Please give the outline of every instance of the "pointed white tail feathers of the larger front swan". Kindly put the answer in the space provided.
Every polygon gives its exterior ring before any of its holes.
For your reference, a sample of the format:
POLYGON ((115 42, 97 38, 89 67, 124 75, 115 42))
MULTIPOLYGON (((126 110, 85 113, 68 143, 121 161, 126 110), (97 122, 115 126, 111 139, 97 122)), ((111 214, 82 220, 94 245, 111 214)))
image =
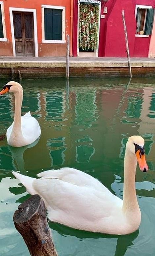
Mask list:
POLYGON ((20 182, 26 187, 26 190, 29 194, 35 195, 38 194, 35 189, 33 188, 33 181, 35 178, 25 176, 23 174, 20 174, 18 172, 12 171, 13 175, 20 180, 20 182))

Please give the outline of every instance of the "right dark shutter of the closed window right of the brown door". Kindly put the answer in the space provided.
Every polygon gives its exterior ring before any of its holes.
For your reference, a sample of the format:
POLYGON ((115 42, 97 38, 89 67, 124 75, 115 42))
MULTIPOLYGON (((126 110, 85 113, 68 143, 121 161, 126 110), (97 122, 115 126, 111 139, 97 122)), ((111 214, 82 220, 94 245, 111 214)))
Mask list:
POLYGON ((53 40, 62 40, 62 10, 53 9, 53 40))

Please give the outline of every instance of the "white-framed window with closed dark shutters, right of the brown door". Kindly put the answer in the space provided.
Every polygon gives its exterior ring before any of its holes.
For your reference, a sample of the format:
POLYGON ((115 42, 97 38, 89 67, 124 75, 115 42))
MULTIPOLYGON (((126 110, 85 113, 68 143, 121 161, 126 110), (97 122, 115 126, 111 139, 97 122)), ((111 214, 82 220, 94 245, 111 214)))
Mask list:
POLYGON ((42 5, 42 42, 65 43, 65 7, 42 5))

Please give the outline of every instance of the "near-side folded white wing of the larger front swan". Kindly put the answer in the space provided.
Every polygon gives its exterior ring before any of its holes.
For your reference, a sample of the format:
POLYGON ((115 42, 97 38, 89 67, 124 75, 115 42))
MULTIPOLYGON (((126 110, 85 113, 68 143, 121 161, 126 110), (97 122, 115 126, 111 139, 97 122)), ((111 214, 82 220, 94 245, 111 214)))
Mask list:
POLYGON ((99 232, 103 219, 108 223, 122 207, 122 200, 111 193, 59 179, 36 179, 33 188, 46 200, 51 221, 77 229, 99 232))

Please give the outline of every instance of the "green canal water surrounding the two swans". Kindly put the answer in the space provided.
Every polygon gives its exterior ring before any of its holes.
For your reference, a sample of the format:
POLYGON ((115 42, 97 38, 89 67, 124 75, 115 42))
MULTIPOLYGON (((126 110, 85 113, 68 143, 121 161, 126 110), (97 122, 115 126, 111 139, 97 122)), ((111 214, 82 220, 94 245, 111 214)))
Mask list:
MULTIPOLYGON (((1 80, 0 87, 7 81, 1 80)), ((145 139, 147 173, 137 167, 136 193, 142 213, 139 230, 105 235, 49 223, 59 256, 155 255, 155 80, 23 80, 22 114, 31 111, 41 126, 33 146, 13 148, 0 140, 0 255, 28 256, 13 224, 13 213, 30 195, 11 170, 37 173, 74 167, 100 180, 122 198, 127 138, 145 139)), ((0 135, 14 117, 14 95, 0 96, 0 135)))

